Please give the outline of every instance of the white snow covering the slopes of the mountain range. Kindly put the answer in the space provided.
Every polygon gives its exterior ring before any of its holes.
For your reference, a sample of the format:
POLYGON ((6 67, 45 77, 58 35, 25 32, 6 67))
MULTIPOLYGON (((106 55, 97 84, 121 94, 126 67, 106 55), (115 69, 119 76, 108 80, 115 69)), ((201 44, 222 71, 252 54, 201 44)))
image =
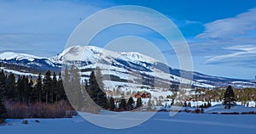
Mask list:
MULTIPOLYGON (((15 60, 22 60, 27 59, 31 61, 28 64, 28 66, 42 66, 44 64, 33 62, 35 59, 46 59, 43 57, 36 57, 33 55, 25 54, 25 53, 0 53, 0 60, 9 60, 9 59, 15 59, 15 60)), ((154 77, 155 82, 161 81, 160 79, 164 79, 163 82, 166 82, 167 84, 172 84, 172 82, 177 83, 183 83, 187 85, 192 85, 196 87, 207 87, 207 88, 213 88, 215 86, 224 86, 225 84, 232 84, 232 81, 230 83, 225 82, 211 82, 207 81, 207 79, 225 79, 229 80, 228 78, 221 78, 221 77, 214 77, 210 75, 202 75, 199 73, 195 73, 194 75, 201 76, 201 80, 194 80, 191 81, 189 79, 182 78, 177 75, 172 75, 169 73, 166 73, 165 71, 162 71, 161 69, 158 69, 157 67, 154 68, 154 65, 149 64, 158 64, 161 63, 157 59, 151 58, 147 55, 143 55, 141 53, 137 52, 114 52, 110 51, 101 47, 95 47, 95 46, 73 46, 68 47, 63 52, 59 53, 55 57, 51 57, 48 60, 45 60, 45 64, 53 66, 53 67, 60 67, 60 64, 71 64, 67 63, 67 61, 84 61, 87 65, 83 65, 80 69, 85 68, 95 68, 96 66, 100 66, 102 70, 102 74, 106 75, 116 75, 119 76, 121 79, 126 79, 129 81, 133 81, 133 83, 137 82, 137 79, 141 79, 140 74, 150 75, 151 77, 154 77), (125 64, 122 64, 117 59, 121 59, 126 61, 128 64, 137 65, 135 68, 127 67, 125 64), (65 62, 65 63, 63 63, 65 62), (145 68, 147 70, 139 70, 138 68, 145 68), (158 79, 160 78, 160 79, 158 79)), ((163 63, 165 64, 165 63, 163 63)), ((166 65, 167 67, 168 65, 166 65)), ((167 69, 168 70, 168 69, 167 69)), ((83 74, 83 73, 81 73, 83 74)), ((85 79, 85 78, 82 78, 85 79)), ((124 82, 125 84, 125 82, 124 82)), ((140 83, 137 83, 138 85, 140 83)), ((248 81, 233 81, 234 86, 236 87, 253 87, 255 84, 248 82, 248 81)))

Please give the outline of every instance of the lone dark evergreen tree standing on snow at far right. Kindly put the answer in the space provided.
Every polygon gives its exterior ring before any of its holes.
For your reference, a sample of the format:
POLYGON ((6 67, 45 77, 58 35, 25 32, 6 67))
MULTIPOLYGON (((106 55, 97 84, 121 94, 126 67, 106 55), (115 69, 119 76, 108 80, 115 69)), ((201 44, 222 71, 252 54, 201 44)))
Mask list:
MULTIPOLYGON (((224 93, 224 105, 228 105, 228 109, 231 107, 231 103, 235 103, 235 93, 233 88, 229 86, 224 93)), ((226 108, 226 107, 225 107, 226 108)))

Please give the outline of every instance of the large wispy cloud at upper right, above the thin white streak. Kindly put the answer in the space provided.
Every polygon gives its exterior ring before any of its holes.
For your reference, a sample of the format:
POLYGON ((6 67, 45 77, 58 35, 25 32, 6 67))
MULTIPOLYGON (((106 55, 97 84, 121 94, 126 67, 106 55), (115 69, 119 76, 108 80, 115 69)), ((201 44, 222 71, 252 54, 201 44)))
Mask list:
POLYGON ((238 14, 234 18, 216 20, 205 25, 206 31, 196 36, 202 39, 218 39, 246 35, 256 30, 256 8, 246 13, 238 14))

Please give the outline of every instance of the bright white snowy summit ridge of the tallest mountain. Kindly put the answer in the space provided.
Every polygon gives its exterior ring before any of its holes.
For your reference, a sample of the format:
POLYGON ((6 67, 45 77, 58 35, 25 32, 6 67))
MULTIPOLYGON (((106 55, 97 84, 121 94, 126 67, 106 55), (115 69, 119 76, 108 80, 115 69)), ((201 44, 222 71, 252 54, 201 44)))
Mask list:
POLYGON ((114 52, 101 47, 96 46, 74 46, 68 47, 63 52, 59 53, 55 57, 49 58, 53 62, 59 62, 66 60, 90 60, 95 63, 99 59, 123 59, 131 62, 146 62, 155 63, 160 62, 157 59, 143 55, 137 52, 114 52))

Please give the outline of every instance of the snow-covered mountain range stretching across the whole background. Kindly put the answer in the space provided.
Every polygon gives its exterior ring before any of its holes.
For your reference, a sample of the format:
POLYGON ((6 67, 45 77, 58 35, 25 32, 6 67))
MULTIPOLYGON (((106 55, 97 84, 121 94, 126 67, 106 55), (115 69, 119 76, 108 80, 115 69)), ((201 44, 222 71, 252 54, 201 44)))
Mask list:
MULTIPOLYGON (((74 46, 50 58, 41 58, 25 53, 0 53, 3 64, 15 64, 36 70, 61 70, 61 64, 79 62, 81 75, 86 79, 89 70, 100 66, 108 81, 129 82, 137 85, 192 85, 192 87, 253 87, 247 80, 230 79, 198 72, 172 69, 157 59, 136 52, 113 52, 101 47, 74 46), (183 77, 180 75, 183 74, 183 77), (193 75, 193 80, 191 79, 193 75)), ((23 69, 24 71, 24 69, 23 69)))

